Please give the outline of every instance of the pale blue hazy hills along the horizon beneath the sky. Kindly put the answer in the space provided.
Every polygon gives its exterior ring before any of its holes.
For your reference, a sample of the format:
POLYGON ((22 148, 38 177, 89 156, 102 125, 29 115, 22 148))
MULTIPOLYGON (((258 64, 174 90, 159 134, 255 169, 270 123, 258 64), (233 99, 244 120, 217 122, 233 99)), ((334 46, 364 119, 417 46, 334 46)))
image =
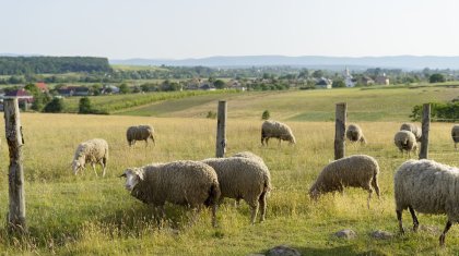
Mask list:
POLYGON ((175 66, 263 66, 263 65, 292 65, 315 69, 342 70, 343 66, 351 69, 389 68, 404 70, 429 69, 459 69, 459 57, 436 56, 393 56, 393 57, 323 57, 323 56, 240 56, 240 57, 209 57, 202 59, 127 59, 110 60, 111 64, 125 65, 175 65, 175 66))

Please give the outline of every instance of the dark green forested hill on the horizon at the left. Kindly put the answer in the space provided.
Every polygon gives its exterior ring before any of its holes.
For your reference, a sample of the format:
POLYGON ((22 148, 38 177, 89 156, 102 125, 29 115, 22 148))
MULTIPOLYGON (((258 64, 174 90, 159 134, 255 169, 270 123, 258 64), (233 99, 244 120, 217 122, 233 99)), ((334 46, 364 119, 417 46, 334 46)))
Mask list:
POLYGON ((95 57, 0 57, 0 75, 59 74, 111 71, 107 58, 95 57))

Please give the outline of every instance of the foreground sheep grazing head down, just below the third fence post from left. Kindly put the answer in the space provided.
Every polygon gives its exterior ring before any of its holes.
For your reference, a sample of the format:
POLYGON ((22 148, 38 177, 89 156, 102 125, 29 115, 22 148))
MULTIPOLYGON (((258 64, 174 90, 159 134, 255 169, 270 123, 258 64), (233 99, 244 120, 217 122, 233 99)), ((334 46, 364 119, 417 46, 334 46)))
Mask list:
POLYGON ((309 196, 317 200, 321 194, 328 192, 343 193, 343 188, 346 186, 362 187, 368 191, 367 206, 369 208, 373 190, 379 198, 378 173, 379 164, 370 156, 354 155, 341 158, 323 168, 310 187, 309 196))

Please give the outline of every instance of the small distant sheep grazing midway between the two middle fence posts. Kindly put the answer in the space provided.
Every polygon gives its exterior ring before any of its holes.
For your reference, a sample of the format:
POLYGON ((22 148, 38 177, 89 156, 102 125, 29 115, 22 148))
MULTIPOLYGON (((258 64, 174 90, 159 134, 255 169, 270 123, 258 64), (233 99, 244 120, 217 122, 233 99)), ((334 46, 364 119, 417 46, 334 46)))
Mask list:
POLYGON ((292 130, 289 127, 289 125, 276 122, 276 121, 270 121, 267 120, 261 125, 261 145, 268 146, 268 141, 271 137, 275 137, 279 139, 279 145, 281 145, 282 141, 287 141, 290 144, 295 144, 295 136, 292 133, 292 130))

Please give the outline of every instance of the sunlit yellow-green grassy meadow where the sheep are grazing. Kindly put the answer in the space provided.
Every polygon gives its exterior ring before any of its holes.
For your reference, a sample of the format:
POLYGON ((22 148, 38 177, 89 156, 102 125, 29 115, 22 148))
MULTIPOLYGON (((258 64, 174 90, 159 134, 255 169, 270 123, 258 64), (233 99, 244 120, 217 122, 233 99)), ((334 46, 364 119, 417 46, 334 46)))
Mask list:
MULTIPOLYGON (((414 105, 450 100, 458 93, 454 87, 263 92, 163 100, 129 109, 123 115, 22 113, 30 233, 11 237, 0 225, 0 254, 248 255, 280 244, 303 255, 459 254, 456 225, 447 235, 446 247, 438 246, 445 216, 419 215, 421 230, 398 235, 392 192, 393 173, 407 160, 393 145, 401 122, 409 121, 414 105), (118 176, 128 167, 213 157, 216 120, 204 119, 203 113, 216 111, 217 99, 228 102, 226 155, 250 150, 270 168, 273 190, 267 220, 250 225, 248 206, 242 203, 235 208, 226 199, 217 211, 217 228, 212 228, 209 211, 192 223, 190 212, 174 205, 166 206, 167 218, 158 225, 152 210, 130 196, 118 176), (348 102, 348 122, 357 122, 368 141, 367 145, 346 143, 345 155, 373 156, 381 169, 381 198, 375 196, 370 209, 363 190, 329 194, 317 203, 307 195, 317 174, 333 160, 333 111, 341 101, 348 102), (292 127, 295 146, 279 146, 275 139, 268 147, 260 146, 260 118, 267 109, 273 119, 292 127), (126 129, 142 123, 154 126, 156 145, 145 147, 139 142, 129 148, 126 129), (70 162, 76 145, 93 137, 105 138, 110 146, 107 175, 97 178, 91 168, 73 175, 70 162), (353 229, 357 237, 334 237, 342 229, 353 229), (369 236, 375 230, 396 235, 375 240, 369 236)), ((429 158, 458 166, 451 125, 431 124, 429 158)), ((4 217, 9 157, 4 136, 1 141, 0 216, 4 217)), ((99 167, 97 171, 101 173, 99 167)), ((410 228, 408 211, 403 220, 410 228)))

